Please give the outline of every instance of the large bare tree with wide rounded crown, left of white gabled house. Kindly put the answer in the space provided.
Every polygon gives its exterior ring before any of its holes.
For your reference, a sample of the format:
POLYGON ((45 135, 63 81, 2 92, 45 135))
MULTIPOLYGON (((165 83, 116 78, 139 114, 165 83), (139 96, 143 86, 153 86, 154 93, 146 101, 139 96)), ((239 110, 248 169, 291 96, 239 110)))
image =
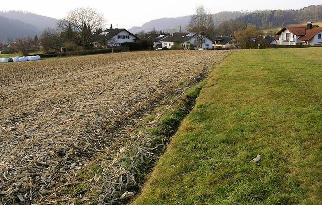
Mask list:
POLYGON ((104 22, 103 15, 95 9, 80 7, 69 11, 67 17, 58 21, 57 27, 64 32, 71 28, 74 41, 85 49, 93 33, 104 22))

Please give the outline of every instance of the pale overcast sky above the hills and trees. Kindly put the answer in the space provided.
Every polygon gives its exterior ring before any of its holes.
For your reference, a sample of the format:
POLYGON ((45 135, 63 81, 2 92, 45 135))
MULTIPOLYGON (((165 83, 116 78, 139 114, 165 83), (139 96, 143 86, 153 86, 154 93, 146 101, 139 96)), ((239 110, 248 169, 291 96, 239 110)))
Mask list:
MULTIPOLYGON (((195 14, 196 7, 203 5, 210 13, 222 11, 255 11, 255 10, 274 10, 274 9, 301 9, 309 5, 320 5, 322 0, 197 0, 197 1, 176 1, 176 0, 78 0, 77 2, 68 0, 54 1, 20 1, 6 2, 0 6, 1 11, 28 11, 43 16, 56 19, 66 17, 68 11, 78 7, 95 8, 103 14, 106 19, 106 27, 110 24, 114 28, 130 29, 133 26, 142 24, 154 19, 163 17, 180 17, 195 14)), ((1 26, 1 22, 0 22, 1 26)))

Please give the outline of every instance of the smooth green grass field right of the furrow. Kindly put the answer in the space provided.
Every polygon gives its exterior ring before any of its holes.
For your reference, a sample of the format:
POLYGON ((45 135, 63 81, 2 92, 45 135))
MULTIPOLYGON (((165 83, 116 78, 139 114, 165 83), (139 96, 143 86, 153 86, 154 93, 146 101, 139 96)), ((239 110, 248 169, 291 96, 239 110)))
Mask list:
POLYGON ((132 203, 322 204, 321 52, 228 56, 132 203))

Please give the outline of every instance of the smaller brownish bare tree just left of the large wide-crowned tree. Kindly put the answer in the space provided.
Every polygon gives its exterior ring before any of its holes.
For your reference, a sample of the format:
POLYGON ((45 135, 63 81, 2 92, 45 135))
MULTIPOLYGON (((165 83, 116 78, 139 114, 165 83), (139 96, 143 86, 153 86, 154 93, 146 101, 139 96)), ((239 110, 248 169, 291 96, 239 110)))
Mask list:
POLYGON ((49 52, 49 49, 54 49, 59 57, 59 51, 63 47, 64 39, 61 37, 61 32, 58 29, 45 29, 41 36, 40 41, 41 45, 44 47, 46 52, 49 52))

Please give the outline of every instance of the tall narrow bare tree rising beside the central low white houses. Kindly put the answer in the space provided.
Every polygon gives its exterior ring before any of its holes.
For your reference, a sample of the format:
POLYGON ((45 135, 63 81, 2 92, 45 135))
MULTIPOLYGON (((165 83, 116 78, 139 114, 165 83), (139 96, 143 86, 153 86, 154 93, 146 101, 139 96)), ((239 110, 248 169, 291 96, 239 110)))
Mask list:
POLYGON ((197 7, 196 14, 190 17, 188 31, 196 33, 197 39, 202 43, 206 36, 213 35, 214 28, 212 14, 207 12, 203 6, 197 7))

